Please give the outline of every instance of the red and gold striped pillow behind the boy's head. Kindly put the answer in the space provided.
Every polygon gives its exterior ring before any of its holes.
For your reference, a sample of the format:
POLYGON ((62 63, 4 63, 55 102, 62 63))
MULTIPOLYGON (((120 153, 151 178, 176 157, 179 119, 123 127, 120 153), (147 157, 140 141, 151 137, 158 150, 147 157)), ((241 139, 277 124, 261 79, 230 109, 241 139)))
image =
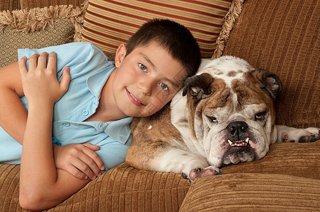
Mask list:
POLYGON ((232 0, 89 0, 81 40, 113 53, 147 20, 169 18, 187 27, 202 57, 212 57, 232 0))

